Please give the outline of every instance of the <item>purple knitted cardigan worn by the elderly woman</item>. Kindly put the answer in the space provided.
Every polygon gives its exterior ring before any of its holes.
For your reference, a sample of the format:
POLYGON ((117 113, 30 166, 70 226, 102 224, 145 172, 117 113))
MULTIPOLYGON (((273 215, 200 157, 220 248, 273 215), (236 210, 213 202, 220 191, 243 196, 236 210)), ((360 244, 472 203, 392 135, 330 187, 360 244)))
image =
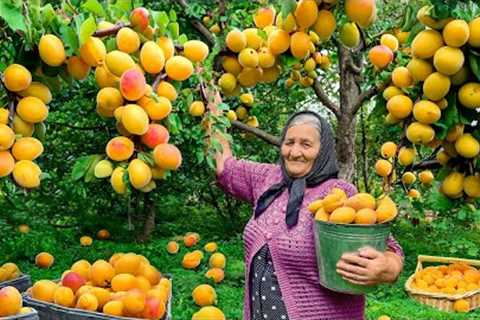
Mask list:
MULTIPOLYGON (((232 196, 250 202, 254 207, 260 195, 282 179, 280 166, 251 161, 225 161, 224 171, 217 177, 220 186, 232 196)), ((313 200, 326 196, 338 187, 348 196, 357 193, 346 181, 331 179, 305 190, 298 224, 287 229, 285 211, 288 190, 285 190, 258 218, 247 223, 243 233, 245 246, 245 298, 243 319, 250 320, 249 273, 252 258, 265 244, 270 249, 280 290, 290 320, 364 319, 365 297, 348 295, 324 288, 319 283, 315 244, 314 219, 306 209, 313 200)), ((402 248, 389 237, 390 250, 403 257, 402 248)))

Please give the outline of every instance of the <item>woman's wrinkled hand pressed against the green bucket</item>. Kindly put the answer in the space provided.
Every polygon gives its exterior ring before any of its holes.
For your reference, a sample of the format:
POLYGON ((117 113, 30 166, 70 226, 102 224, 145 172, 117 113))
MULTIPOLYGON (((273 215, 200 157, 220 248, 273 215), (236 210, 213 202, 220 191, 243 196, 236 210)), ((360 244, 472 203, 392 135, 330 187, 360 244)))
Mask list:
POLYGON ((393 282, 400 273, 393 252, 381 252, 372 247, 344 253, 337 263, 337 273, 354 284, 374 286, 393 282))

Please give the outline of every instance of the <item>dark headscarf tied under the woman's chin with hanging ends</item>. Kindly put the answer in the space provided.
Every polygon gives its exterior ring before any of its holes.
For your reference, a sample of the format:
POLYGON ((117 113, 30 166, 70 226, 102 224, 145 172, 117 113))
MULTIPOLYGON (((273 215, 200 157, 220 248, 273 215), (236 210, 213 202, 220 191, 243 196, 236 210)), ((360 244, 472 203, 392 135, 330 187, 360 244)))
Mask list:
POLYGON ((315 159, 312 169, 306 176, 300 178, 290 177, 285 168, 284 159, 280 154, 280 166, 282 168, 283 179, 280 183, 271 186, 260 196, 257 201, 257 207, 255 208, 255 218, 258 218, 270 206, 270 204, 282 194, 285 188, 288 188, 289 198, 285 222, 289 228, 295 226, 298 222, 298 213, 300 212, 300 206, 303 202, 305 187, 314 187, 328 179, 336 178, 338 176, 335 138, 333 137, 329 123, 317 113, 312 111, 301 111, 291 116, 283 129, 281 144, 285 141, 287 130, 295 125, 293 120, 303 115, 313 116, 320 121, 320 128, 314 125, 317 129, 320 129, 320 152, 315 159))

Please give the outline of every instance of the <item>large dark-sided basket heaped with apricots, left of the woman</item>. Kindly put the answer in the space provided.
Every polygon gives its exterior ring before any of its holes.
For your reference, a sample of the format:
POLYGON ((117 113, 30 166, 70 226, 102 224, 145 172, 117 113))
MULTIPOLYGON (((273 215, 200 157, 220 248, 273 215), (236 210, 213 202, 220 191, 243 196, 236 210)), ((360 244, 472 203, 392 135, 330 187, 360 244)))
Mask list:
POLYGON ((147 258, 116 253, 75 262, 58 281, 39 280, 24 294, 42 319, 171 319, 172 283, 147 258))

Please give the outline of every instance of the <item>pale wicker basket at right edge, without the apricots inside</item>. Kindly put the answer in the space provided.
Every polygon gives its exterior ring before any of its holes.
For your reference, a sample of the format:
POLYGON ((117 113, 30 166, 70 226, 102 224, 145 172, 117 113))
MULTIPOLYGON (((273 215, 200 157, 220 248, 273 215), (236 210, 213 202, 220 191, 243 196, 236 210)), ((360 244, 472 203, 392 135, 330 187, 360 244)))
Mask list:
MULTIPOLYGON (((424 262, 443 263, 443 264, 449 264, 453 262, 463 262, 471 266, 480 267, 479 260, 419 255, 415 273, 423 269, 422 263, 424 262)), ((470 303, 469 311, 472 311, 473 309, 480 307, 480 289, 477 289, 474 291, 468 291, 466 293, 461 293, 461 294, 425 292, 417 288, 414 288, 412 286, 412 282, 415 278, 415 273, 408 278, 407 282, 405 282, 405 290, 408 292, 408 295, 410 297, 417 300, 418 302, 432 306, 442 311, 454 311, 453 304, 458 299, 465 299, 470 303)))

